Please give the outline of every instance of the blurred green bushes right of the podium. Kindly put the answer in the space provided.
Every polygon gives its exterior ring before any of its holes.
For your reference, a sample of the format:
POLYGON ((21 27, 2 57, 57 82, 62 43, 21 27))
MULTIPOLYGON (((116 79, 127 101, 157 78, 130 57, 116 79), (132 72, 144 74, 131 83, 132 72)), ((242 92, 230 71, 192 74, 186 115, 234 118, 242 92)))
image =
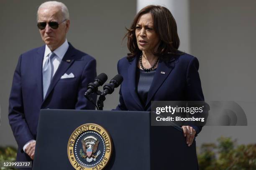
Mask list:
POLYGON ((256 144, 237 145, 236 140, 224 137, 217 141, 217 145, 201 146, 200 170, 256 170, 256 144))

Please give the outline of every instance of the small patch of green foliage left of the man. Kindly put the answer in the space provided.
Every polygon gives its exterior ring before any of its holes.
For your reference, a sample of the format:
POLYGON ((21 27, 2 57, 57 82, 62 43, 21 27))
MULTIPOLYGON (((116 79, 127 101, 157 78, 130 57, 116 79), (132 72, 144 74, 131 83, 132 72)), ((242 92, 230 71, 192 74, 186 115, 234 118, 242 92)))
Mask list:
MULTIPOLYGON (((11 146, 0 147, 0 163, 16 160, 17 149, 11 146)), ((1 165, 0 165, 1 166, 1 165)), ((15 168, 0 167, 0 170, 15 170, 15 168)))

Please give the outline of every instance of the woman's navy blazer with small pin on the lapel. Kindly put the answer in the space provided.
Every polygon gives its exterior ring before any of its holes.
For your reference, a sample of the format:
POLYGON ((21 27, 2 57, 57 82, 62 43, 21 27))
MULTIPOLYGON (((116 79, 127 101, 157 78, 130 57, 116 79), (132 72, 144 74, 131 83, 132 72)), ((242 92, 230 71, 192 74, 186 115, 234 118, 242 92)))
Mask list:
MULTIPOLYGON (((123 76, 123 82, 119 91, 120 104, 115 110, 151 111, 151 101, 204 101, 196 57, 184 53, 168 61, 160 60, 145 107, 136 91, 137 65, 138 56, 131 61, 126 57, 118 61, 118 74, 123 76)), ((201 126, 192 127, 196 134, 202 130, 201 126)))

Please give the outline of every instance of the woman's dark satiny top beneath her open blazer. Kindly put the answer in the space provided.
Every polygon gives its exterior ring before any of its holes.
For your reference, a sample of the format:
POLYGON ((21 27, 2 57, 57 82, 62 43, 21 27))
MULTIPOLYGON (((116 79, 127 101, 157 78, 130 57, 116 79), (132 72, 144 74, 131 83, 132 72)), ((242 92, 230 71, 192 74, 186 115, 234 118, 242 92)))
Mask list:
POLYGON ((148 98, 148 91, 153 81, 156 69, 146 72, 145 70, 141 70, 137 67, 136 70, 136 87, 138 96, 141 100, 141 104, 145 107, 147 98, 148 98))

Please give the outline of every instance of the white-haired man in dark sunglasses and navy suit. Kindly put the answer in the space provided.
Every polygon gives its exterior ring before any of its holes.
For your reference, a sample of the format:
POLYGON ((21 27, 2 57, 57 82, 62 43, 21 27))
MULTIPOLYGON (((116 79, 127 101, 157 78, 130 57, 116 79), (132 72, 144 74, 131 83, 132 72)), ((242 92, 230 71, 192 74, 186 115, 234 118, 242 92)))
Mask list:
POLYGON ((67 42, 66 5, 44 2, 38 7, 37 20, 46 45, 20 55, 9 99, 9 122, 19 161, 33 160, 40 109, 95 109, 84 92, 96 77, 96 61, 67 42))

